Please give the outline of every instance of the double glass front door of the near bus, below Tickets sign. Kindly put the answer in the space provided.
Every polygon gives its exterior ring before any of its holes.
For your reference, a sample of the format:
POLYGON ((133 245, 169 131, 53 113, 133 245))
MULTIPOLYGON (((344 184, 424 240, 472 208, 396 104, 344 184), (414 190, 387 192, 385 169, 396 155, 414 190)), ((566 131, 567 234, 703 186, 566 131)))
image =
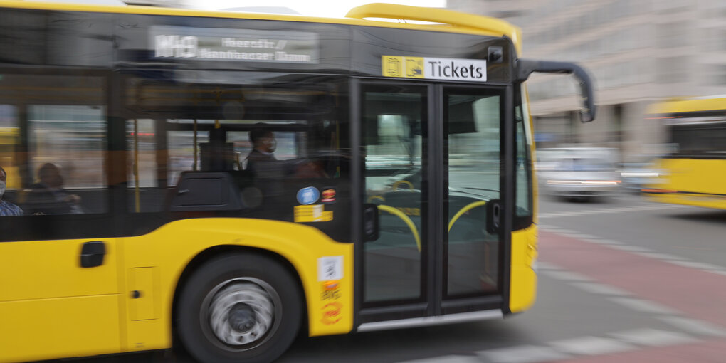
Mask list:
POLYGON ((362 83, 364 203, 378 238, 359 243, 359 330, 376 322, 500 309, 501 97, 412 82, 362 83))

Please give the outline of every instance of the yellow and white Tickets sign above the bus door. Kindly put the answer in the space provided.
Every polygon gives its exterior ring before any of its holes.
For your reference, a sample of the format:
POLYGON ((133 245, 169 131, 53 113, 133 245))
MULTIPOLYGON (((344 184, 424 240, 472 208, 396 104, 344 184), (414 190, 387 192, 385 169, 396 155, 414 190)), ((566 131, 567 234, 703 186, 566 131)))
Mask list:
POLYGON ((382 55, 380 64, 386 77, 486 82, 486 60, 382 55))

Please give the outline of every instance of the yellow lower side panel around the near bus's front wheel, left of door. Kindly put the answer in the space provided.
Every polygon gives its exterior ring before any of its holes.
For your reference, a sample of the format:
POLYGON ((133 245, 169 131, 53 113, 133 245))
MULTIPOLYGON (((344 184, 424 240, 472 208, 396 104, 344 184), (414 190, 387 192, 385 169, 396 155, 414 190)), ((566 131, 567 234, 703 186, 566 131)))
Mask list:
POLYGON ((73 263, 88 239, 0 243, 0 362, 51 359, 59 352, 90 356, 170 348, 171 307, 181 274, 192 259, 215 247, 266 250, 288 261, 305 291, 309 335, 352 330, 353 245, 330 240, 313 227, 261 219, 185 219, 139 237, 99 240, 111 248, 107 263, 92 271, 73 263), (33 257, 13 261, 3 256, 33 257), (317 279, 317 258, 324 256, 343 256, 345 266, 334 324, 324 319, 330 309, 317 279), (17 276, 13 272, 21 266, 35 273, 17 276), (144 295, 134 298, 133 291, 144 295), (68 309, 62 309, 63 301, 68 309), (52 338, 38 346, 40 337, 52 338))

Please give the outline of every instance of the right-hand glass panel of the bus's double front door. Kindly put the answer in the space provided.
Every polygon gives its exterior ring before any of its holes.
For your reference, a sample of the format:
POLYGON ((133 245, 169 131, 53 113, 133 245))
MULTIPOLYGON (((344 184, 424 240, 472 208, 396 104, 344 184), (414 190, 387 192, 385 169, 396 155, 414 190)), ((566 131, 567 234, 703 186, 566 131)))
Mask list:
POLYGON ((444 93, 448 146, 447 297, 494 293, 499 236, 487 232, 486 210, 499 199, 501 97, 491 91, 444 93))

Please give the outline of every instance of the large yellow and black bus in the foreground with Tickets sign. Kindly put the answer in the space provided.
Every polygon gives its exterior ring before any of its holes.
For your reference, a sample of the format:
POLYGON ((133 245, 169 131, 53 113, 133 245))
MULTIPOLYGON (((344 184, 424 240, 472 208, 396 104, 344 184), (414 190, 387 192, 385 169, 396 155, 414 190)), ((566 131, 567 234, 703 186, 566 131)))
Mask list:
POLYGON ((583 121, 595 109, 582 68, 521 60, 520 39, 389 4, 322 19, 0 1, 20 185, 2 206, 23 209, 0 217, 0 361, 179 345, 270 362, 298 333, 528 309, 523 82, 572 73, 583 121))

